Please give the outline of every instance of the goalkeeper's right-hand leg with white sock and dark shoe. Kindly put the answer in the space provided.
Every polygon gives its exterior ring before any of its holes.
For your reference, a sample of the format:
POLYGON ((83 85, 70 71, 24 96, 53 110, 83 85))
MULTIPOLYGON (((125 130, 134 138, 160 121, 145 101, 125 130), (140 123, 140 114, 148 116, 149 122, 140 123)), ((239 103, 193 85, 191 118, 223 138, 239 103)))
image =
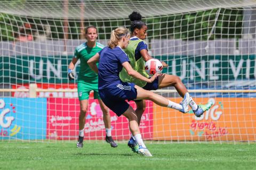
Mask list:
POLYGON ((115 147, 117 147, 117 144, 115 143, 115 141, 113 140, 112 135, 111 135, 111 120, 110 120, 109 109, 100 99, 99 99, 99 104, 100 104, 100 108, 103 112, 103 122, 104 122, 105 128, 106 128, 105 140, 106 140, 106 142, 108 142, 110 144, 111 147, 115 148, 115 147))

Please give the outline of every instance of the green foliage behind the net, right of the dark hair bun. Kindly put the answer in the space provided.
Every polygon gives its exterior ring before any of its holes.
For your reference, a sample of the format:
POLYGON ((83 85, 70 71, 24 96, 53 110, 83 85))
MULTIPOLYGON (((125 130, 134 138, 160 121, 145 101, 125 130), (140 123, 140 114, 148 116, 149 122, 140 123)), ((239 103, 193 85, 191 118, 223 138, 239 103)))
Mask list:
MULTIPOLYGON (((215 22, 217 11, 218 9, 147 19, 149 37, 206 40, 215 22)), ((221 9, 210 39, 241 38, 242 21, 242 10, 221 9)))

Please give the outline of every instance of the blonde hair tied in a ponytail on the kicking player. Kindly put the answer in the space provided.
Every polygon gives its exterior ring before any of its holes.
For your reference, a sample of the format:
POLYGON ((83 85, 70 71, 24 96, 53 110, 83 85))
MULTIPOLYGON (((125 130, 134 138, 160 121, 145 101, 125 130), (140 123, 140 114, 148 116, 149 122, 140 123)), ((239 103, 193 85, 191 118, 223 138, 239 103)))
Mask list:
POLYGON ((124 28, 124 27, 118 27, 115 30, 111 31, 111 36, 108 42, 108 47, 110 48, 115 48, 118 45, 118 41, 123 37, 123 36, 128 36, 130 35, 129 29, 124 28))

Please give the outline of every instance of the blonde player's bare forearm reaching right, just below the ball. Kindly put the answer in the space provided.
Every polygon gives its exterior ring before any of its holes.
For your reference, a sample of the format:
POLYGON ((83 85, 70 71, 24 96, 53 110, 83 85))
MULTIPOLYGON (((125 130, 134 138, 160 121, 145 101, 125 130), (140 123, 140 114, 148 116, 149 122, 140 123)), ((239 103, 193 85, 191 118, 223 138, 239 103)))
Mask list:
POLYGON ((150 79, 144 77, 143 75, 141 75, 140 73, 138 73, 137 71, 132 69, 132 66, 130 65, 129 62, 124 62, 122 63, 124 69, 126 70, 126 72, 128 73, 128 75, 130 75, 131 77, 134 77, 136 79, 140 79, 142 81, 146 81, 148 83, 153 82, 159 75, 159 73, 156 73, 153 75, 153 77, 151 77, 150 79))

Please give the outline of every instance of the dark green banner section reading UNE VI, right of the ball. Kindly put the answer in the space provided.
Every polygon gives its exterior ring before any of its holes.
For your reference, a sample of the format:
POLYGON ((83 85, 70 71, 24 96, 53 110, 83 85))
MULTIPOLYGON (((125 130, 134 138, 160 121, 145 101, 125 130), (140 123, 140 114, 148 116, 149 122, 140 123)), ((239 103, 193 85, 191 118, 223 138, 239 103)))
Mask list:
POLYGON ((164 73, 190 82, 255 80, 256 55, 156 56, 169 67, 164 73))

